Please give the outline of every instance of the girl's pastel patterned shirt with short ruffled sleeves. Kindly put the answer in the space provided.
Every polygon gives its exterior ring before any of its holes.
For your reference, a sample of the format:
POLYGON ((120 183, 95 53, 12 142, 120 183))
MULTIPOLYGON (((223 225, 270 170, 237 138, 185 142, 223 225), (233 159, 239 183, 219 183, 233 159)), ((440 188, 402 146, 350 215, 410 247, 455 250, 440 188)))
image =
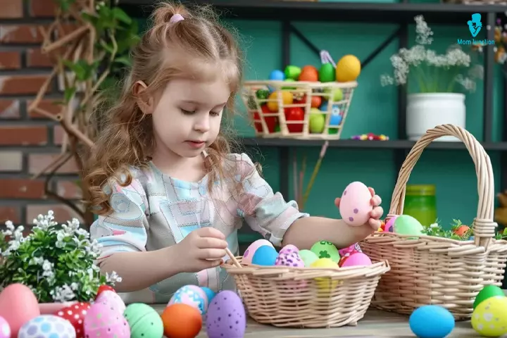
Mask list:
MULTIPOLYGON (((117 252, 153 251, 177 244, 200 227, 223 232, 229 249, 237 255, 237 231, 244 222, 280 246, 289 226, 308 216, 299 212, 295 201, 284 201, 280 193, 274 193, 246 154, 230 154, 223 166, 224 170, 234 170, 234 180, 215 182, 212 195, 208 175, 199 182, 184 182, 161 173, 153 163, 148 168, 132 168, 132 182, 126 187, 111 183, 113 211, 99 216, 90 229, 92 239, 102 246, 98 263, 117 252), (239 195, 234 193, 238 184, 239 195)), ((233 278, 218 267, 180 273, 122 296, 127 303, 165 303, 187 284, 215 292, 234 289, 233 278)))

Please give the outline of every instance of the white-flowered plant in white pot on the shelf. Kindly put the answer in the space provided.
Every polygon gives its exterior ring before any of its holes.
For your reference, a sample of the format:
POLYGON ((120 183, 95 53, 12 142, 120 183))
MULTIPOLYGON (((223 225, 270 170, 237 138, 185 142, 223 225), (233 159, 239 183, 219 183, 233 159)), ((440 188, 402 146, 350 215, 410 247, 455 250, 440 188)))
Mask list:
MULTIPOLYGON (((470 54, 458 44, 444 54, 429 48, 433 32, 423 15, 415 17, 415 44, 401 48, 391 56, 394 75, 382 75, 382 85, 403 85, 408 88, 406 133, 416 141, 426 130, 450 123, 465 127, 465 92, 475 91, 475 80, 482 78, 482 67, 474 65, 470 54), (408 86, 415 82, 415 89, 408 86)), ((438 141, 456 141, 440 137, 438 141)))

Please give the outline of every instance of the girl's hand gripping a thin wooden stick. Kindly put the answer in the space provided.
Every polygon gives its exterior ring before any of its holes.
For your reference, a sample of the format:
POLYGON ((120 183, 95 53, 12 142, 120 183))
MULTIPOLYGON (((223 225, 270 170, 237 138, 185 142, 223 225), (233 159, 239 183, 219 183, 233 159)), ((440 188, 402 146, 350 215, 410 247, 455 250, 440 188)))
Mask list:
POLYGON ((190 232, 176 244, 184 273, 197 273, 220 265, 227 255, 225 236, 213 227, 201 227, 190 232))

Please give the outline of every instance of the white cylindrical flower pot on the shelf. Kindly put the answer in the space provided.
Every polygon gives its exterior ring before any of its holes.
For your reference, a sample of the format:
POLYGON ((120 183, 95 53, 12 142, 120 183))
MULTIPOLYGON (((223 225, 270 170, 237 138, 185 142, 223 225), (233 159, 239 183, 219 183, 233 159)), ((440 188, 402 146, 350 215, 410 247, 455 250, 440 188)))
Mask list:
MULTIPOLYGON (((406 133, 411 141, 417 141, 426 130, 437 125, 457 125, 465 128, 465 95, 458 93, 408 94, 406 133)), ((456 142, 453 136, 439 137, 435 141, 456 142)))

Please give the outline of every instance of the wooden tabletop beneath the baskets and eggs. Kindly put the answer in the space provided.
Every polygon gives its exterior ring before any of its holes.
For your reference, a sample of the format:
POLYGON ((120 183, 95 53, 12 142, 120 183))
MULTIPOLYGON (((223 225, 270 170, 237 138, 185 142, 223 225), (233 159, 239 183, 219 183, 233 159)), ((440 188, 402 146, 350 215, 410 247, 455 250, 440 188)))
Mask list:
MULTIPOLYGON (((154 308, 162 312, 164 305, 154 308)), ((203 327, 197 338, 206 338, 206 329, 203 327)), ((369 310, 357 326, 334 327, 330 329, 293 329, 261 325, 249 318, 246 325, 245 338, 334 338, 334 337, 406 337, 415 335, 408 327, 408 317, 384 311, 369 310)), ((446 338, 480 337, 470 325, 470 321, 458 322, 453 332, 446 338)))

